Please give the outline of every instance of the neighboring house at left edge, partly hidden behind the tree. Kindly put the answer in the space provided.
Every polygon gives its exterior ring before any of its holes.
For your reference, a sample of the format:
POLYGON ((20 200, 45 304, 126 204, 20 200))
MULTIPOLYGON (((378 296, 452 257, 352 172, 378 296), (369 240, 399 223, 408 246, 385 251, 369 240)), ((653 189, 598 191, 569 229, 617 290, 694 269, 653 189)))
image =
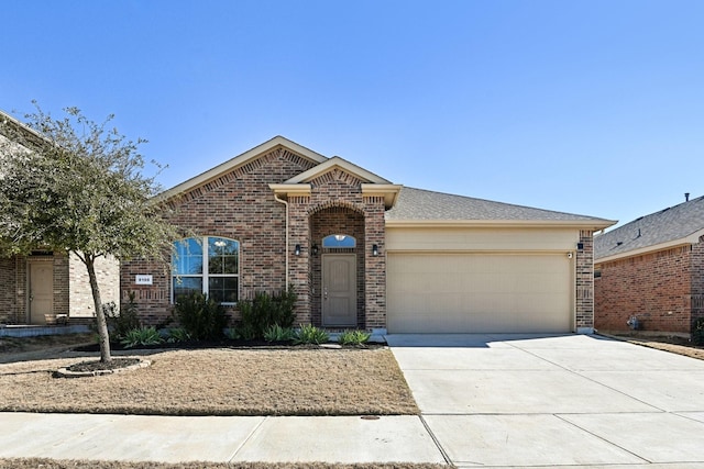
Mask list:
MULTIPOLYGON (((41 138, 2 111, 0 123, 13 125, 30 139, 41 138)), ((9 157, 8 144, 13 150, 19 146, 3 135, 0 125, 0 160, 9 157)), ((114 259, 100 259, 96 272, 102 301, 119 302, 118 263, 114 259)), ((37 246, 29 256, 0 257, 0 324, 45 325, 57 319, 59 322, 84 322, 95 315, 86 267, 78 257, 67 253, 37 246)))

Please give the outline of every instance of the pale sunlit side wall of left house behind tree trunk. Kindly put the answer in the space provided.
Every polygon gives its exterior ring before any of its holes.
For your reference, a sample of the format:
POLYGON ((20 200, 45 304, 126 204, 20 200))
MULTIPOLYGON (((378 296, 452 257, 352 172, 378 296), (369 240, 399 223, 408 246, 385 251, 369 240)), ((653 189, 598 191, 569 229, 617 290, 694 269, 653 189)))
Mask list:
MULTIPOLYGON (((96 260, 96 276, 100 287, 102 303, 114 301, 120 304, 120 263, 113 257, 100 257, 96 260)), ((69 258, 69 315, 72 317, 92 317, 95 306, 88 270, 81 260, 72 254, 69 258)))

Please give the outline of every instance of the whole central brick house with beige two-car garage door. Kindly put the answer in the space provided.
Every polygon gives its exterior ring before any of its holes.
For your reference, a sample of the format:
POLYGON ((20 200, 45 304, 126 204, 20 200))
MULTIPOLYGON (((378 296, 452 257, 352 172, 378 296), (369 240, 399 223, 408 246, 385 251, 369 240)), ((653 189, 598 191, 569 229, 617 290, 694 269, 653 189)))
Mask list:
POLYGON ((202 291, 237 315, 290 286, 297 323, 388 333, 591 333, 593 233, 615 222, 394 185, 275 137, 161 196, 172 271, 121 266, 144 320, 202 291))

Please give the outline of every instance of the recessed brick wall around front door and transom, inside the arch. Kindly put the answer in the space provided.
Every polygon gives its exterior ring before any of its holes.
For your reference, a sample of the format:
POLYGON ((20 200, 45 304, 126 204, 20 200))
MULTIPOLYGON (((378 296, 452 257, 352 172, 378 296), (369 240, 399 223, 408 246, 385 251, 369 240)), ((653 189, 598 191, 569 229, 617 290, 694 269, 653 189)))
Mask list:
POLYGON ((318 254, 310 258, 311 314, 316 325, 322 325, 322 256, 327 254, 354 254, 356 258, 356 327, 365 328, 364 311, 364 212, 352 203, 331 203, 311 210, 310 244, 318 246, 318 254), (344 249, 322 248, 322 238, 333 234, 345 234, 356 239, 356 246, 344 249))

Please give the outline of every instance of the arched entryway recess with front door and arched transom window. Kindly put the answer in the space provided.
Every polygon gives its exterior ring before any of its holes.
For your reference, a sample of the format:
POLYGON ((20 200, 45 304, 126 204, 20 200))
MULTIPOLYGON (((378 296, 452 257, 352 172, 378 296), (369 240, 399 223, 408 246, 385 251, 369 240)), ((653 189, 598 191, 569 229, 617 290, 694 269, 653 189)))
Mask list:
POLYGON ((310 215, 312 323, 327 328, 365 328, 364 214, 328 206, 310 215))

